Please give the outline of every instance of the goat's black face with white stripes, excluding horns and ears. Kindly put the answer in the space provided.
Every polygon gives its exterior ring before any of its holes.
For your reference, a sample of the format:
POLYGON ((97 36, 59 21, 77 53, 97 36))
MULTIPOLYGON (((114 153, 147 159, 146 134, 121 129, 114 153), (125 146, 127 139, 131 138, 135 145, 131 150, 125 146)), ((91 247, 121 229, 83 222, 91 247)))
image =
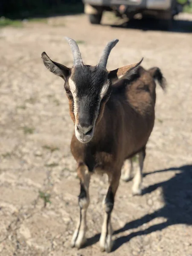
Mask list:
POLYGON ((76 137, 87 143, 93 137, 99 110, 111 94, 108 71, 97 66, 74 67, 69 88, 73 94, 76 137))

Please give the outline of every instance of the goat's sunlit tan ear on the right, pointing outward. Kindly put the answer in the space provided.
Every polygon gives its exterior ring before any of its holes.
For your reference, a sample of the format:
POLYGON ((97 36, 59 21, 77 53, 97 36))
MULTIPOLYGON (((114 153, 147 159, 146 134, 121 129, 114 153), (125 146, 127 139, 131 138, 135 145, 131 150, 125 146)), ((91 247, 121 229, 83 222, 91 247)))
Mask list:
POLYGON ((137 72, 142 61, 143 58, 136 64, 119 67, 116 70, 109 71, 108 78, 112 81, 112 84, 122 79, 131 79, 131 76, 137 72))

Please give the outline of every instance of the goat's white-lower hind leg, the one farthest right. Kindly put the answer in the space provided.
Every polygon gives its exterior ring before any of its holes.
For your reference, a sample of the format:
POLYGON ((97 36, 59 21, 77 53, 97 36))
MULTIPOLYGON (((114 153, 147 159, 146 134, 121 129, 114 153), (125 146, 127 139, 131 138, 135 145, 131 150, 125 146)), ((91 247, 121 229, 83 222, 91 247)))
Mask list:
POLYGON ((142 172, 143 172, 143 163, 145 160, 145 147, 138 153, 139 155, 139 168, 137 168, 132 187, 133 195, 141 195, 141 186, 142 186, 142 172))

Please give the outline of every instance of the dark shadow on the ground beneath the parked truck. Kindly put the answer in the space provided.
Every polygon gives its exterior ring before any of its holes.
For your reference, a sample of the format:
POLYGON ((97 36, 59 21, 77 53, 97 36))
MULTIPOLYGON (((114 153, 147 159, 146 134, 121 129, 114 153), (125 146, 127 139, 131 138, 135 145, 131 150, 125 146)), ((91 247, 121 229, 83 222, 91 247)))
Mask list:
MULTIPOLYGON (((105 26, 105 24, 104 24, 105 26)), ((171 28, 169 30, 162 25, 162 20, 155 19, 134 19, 126 21, 120 25, 113 24, 113 28, 124 28, 124 29, 140 29, 143 31, 166 31, 166 32, 178 32, 178 33, 192 33, 192 21, 190 20, 173 20, 171 28)))

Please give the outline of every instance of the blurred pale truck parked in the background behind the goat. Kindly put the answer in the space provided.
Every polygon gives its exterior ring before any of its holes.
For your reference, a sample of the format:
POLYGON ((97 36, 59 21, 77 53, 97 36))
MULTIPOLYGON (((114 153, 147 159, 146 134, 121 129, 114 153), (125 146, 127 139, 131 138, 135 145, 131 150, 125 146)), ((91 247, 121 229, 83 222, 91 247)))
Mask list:
POLYGON ((183 11, 189 0, 83 0, 84 13, 91 24, 100 24, 103 12, 114 12, 118 17, 134 19, 138 13, 142 17, 162 20, 166 29, 172 28, 174 16, 183 11))

